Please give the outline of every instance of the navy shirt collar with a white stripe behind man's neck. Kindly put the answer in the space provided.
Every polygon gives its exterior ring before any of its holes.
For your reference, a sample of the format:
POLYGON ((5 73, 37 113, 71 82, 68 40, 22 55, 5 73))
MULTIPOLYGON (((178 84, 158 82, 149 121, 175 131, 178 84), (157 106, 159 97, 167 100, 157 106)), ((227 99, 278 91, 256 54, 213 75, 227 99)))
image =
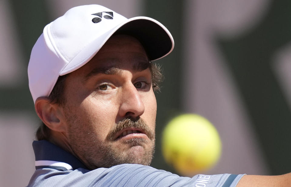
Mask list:
POLYGON ((52 168, 60 171, 88 169, 79 159, 46 140, 33 141, 35 169, 52 168))

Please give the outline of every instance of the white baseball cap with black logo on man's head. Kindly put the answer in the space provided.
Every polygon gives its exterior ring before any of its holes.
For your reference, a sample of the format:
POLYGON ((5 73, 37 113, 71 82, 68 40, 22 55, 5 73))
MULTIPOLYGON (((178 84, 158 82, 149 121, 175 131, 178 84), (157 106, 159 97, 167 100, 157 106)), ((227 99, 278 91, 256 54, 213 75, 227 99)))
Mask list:
POLYGON ((101 5, 71 8, 45 26, 32 48, 28 80, 33 101, 49 96, 59 76, 89 62, 116 33, 137 38, 151 61, 168 55, 174 48, 168 29, 152 18, 127 19, 101 5))

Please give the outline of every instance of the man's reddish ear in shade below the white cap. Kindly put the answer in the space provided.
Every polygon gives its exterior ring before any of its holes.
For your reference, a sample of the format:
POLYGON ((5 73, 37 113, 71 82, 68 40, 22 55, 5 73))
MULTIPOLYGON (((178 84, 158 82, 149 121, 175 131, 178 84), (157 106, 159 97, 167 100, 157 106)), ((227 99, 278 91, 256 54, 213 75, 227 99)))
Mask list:
POLYGON ((52 104, 48 97, 39 97, 35 101, 35 111, 44 124, 53 131, 66 130, 63 109, 58 104, 52 104))

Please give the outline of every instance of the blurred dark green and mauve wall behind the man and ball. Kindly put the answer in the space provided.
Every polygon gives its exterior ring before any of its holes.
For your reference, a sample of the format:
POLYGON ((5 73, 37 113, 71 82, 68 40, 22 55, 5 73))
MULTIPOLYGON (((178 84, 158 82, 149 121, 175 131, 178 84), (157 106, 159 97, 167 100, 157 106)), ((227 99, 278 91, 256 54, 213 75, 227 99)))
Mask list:
POLYGON ((221 159, 204 174, 291 172, 290 1, 1 0, 1 185, 27 185, 35 170, 31 143, 40 120, 28 89, 30 51, 46 24, 85 4, 152 17, 174 37, 174 51, 157 61, 165 81, 156 94, 153 167, 176 173, 162 158, 161 132, 190 112, 208 118, 222 139, 221 159))

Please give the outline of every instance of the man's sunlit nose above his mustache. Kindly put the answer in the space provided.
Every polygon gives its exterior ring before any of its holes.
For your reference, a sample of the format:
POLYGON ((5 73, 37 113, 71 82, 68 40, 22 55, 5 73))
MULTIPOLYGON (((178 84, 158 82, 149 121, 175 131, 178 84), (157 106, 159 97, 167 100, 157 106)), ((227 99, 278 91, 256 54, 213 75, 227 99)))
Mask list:
POLYGON ((121 105, 119 108, 119 116, 124 117, 139 117, 145 111, 145 105, 142 101, 140 92, 132 83, 127 84, 122 88, 121 105))

